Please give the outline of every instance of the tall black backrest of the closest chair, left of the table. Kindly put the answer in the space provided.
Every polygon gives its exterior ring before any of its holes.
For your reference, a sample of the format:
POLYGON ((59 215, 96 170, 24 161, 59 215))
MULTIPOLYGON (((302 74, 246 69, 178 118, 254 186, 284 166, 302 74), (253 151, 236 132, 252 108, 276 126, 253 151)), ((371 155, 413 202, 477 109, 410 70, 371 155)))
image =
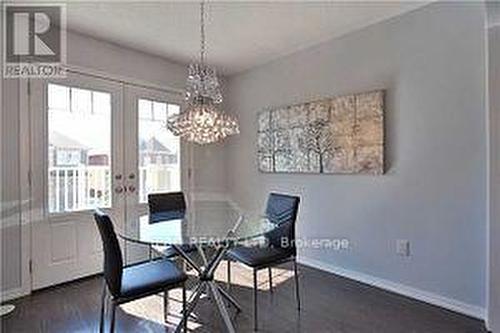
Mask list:
POLYGON ((94 218, 101 234, 104 249, 104 279, 112 295, 117 296, 121 290, 123 259, 120 244, 116 237, 113 223, 109 216, 96 210, 94 218))

